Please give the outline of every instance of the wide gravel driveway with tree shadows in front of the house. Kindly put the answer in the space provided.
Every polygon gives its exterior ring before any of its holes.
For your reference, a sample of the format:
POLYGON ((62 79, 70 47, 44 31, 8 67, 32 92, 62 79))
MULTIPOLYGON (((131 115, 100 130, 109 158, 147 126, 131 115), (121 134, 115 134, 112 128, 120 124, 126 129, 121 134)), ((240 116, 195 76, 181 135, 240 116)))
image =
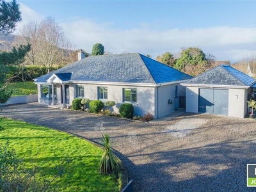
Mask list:
POLYGON ((3 106, 2 116, 72 132, 115 150, 134 179, 134 191, 252 191, 246 164, 256 163, 256 121, 185 113, 145 124, 37 104, 3 106))

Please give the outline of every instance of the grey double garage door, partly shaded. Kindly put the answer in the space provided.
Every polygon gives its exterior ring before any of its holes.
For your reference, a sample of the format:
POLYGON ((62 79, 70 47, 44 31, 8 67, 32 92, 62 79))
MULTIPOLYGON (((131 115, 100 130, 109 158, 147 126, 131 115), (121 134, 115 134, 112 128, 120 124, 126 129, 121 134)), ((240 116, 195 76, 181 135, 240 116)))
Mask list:
POLYGON ((228 115, 228 90, 199 89, 198 112, 228 115))

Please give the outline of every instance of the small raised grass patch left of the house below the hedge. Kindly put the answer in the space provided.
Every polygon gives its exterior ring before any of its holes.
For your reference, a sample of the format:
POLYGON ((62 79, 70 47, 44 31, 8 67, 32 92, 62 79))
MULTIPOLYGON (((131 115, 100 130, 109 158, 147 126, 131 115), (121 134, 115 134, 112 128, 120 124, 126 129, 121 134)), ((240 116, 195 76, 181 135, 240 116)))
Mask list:
POLYGON ((12 97, 37 93, 37 86, 32 81, 10 83, 7 88, 13 91, 12 97))

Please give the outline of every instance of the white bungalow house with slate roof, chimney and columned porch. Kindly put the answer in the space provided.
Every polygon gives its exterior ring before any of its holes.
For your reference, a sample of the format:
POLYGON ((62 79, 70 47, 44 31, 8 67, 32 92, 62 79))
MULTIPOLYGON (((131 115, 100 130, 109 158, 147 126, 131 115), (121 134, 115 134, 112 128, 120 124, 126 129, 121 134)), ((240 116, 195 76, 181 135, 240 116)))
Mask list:
POLYGON ((34 81, 40 104, 65 108, 77 97, 114 100, 116 112, 129 102, 136 115, 152 113, 159 118, 179 108, 179 96, 186 95, 180 83, 188 79, 188 74, 139 53, 84 58, 79 52, 79 61, 34 81))

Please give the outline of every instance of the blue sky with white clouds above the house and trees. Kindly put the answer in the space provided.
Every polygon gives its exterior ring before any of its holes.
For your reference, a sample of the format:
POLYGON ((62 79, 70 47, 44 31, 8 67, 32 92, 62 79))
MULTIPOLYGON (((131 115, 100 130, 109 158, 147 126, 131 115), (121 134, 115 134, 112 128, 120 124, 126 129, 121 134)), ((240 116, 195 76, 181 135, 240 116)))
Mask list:
POLYGON ((92 52, 140 52, 152 58, 164 52, 199 47, 216 60, 235 63, 256 56, 256 0, 85 1, 17 0, 22 22, 53 17, 74 49, 92 52))

